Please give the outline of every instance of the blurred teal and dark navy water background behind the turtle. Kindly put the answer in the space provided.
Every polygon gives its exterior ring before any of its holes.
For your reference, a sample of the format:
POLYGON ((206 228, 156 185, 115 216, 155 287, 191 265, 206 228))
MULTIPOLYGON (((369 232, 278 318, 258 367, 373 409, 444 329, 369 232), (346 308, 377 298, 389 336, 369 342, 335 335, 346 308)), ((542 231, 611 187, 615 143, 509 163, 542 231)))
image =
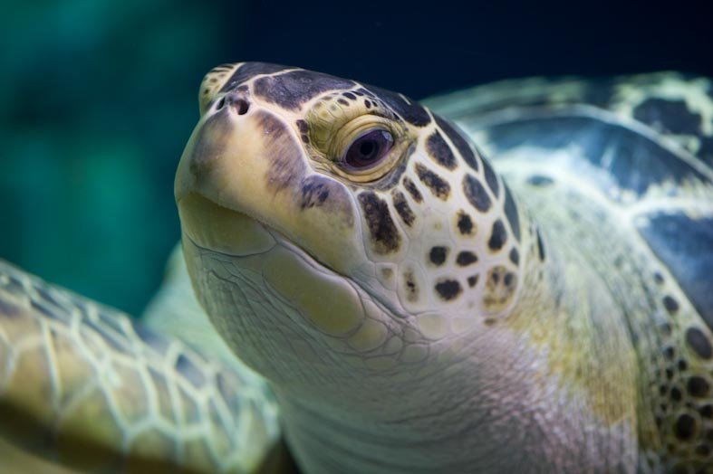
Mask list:
POLYGON ((415 99, 532 75, 713 75, 702 1, 4 4, 0 258, 134 315, 178 242, 173 176, 217 64, 300 66, 415 99))

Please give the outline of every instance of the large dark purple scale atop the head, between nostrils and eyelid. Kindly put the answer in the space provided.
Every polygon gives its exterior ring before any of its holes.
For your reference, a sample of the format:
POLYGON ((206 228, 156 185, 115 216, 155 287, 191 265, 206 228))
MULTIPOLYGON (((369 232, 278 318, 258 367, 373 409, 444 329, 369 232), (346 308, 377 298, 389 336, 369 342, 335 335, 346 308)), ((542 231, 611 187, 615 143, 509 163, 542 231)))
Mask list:
POLYGON ((296 110, 328 90, 351 89, 354 82, 321 72, 289 71, 255 80, 255 95, 284 109, 296 110))

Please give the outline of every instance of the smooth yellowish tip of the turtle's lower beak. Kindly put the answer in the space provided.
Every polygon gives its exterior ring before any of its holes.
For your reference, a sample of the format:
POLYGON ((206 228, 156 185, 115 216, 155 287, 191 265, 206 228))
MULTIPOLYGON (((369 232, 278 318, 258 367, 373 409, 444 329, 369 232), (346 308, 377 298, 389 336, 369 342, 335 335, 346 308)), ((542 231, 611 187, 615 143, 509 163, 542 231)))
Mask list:
POLYGON ((188 239, 211 251, 243 257, 265 253, 277 244, 264 223, 198 193, 181 197, 178 214, 188 239))

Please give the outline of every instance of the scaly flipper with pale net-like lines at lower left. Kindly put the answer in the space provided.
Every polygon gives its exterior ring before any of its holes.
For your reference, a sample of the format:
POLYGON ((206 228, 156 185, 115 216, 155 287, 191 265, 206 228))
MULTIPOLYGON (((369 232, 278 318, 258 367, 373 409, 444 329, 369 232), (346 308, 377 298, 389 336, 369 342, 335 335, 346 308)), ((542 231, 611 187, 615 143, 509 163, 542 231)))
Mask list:
POLYGON ((0 437, 83 472, 242 473, 279 429, 265 385, 0 261, 0 437))

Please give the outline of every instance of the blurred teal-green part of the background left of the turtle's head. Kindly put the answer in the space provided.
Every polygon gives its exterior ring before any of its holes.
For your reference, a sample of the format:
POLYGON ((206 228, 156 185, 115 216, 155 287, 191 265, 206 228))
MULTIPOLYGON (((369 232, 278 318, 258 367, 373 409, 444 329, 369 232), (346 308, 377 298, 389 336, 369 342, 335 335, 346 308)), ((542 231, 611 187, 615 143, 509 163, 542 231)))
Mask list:
POLYGON ((0 257, 132 314, 178 242, 202 75, 239 53, 217 47, 225 10, 177 5, 0 8, 0 257))

